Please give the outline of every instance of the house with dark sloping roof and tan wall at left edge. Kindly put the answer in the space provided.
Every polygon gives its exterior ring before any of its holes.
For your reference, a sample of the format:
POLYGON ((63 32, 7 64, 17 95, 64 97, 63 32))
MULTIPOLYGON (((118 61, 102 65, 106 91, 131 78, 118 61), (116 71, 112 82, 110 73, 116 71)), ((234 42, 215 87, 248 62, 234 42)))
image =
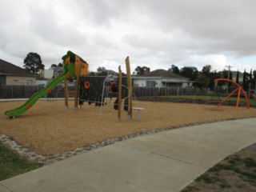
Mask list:
POLYGON ((35 86, 36 75, 0 59, 0 85, 35 86))

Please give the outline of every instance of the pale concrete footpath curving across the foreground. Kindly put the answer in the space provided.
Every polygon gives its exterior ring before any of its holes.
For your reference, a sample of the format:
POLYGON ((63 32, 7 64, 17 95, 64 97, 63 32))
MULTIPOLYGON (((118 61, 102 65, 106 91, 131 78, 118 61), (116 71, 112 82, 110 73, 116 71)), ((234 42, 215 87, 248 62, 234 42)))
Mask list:
POLYGON ((187 126, 116 142, 0 182, 1 192, 180 191, 256 142, 256 118, 187 126))

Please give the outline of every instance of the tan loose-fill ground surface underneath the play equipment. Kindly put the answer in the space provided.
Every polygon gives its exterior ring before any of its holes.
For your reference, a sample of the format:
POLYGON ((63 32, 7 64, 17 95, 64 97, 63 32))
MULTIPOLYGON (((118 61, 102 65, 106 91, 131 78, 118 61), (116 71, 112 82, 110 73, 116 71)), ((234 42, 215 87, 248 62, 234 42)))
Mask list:
MULTIPOLYGON (((64 101, 48 102, 40 100, 26 114, 9 118, 0 114, 0 134, 6 134, 38 154, 59 154, 75 148, 120 138, 125 135, 178 128, 195 123, 214 122, 226 119, 256 117, 256 109, 234 106, 198 105, 173 102, 138 102, 133 107, 142 107, 141 119, 138 111, 133 110, 132 118, 127 119, 126 111, 122 112, 121 121, 113 110, 114 101, 106 99, 101 107, 84 103, 82 109, 74 110, 74 101, 65 109, 64 101)), ((0 102, 5 111, 20 106, 24 101, 0 102)))

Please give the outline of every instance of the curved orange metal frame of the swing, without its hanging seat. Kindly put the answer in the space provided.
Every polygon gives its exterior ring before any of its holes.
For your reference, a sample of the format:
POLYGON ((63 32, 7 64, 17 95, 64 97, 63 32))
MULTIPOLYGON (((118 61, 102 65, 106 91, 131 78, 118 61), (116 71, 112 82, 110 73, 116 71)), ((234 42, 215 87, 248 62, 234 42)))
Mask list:
POLYGON ((214 82, 220 82, 220 81, 231 82, 235 86, 237 86, 237 88, 235 90, 233 90, 228 96, 226 96, 226 98, 224 98, 222 102, 218 102, 218 106, 222 105, 223 102, 226 102, 232 95, 234 95, 238 91, 238 98, 237 98, 237 104, 236 104, 236 110, 238 110, 240 94, 241 94, 241 91, 242 91, 242 94, 244 95, 244 97, 246 99, 246 107, 247 107, 247 109, 250 108, 249 100, 247 98, 245 90, 242 89, 242 86, 240 86, 237 82, 234 82, 234 81, 232 81, 230 79, 227 79, 227 78, 216 78, 216 79, 214 79, 214 82))

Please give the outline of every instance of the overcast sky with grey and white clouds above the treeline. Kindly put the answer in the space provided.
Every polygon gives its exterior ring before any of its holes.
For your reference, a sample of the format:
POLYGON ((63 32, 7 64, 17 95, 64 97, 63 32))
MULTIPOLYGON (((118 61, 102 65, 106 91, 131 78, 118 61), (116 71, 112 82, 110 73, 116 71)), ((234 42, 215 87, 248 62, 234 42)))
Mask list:
POLYGON ((211 65, 256 70, 255 0, 1 0, 0 58, 46 69, 68 50, 91 71, 211 65))

